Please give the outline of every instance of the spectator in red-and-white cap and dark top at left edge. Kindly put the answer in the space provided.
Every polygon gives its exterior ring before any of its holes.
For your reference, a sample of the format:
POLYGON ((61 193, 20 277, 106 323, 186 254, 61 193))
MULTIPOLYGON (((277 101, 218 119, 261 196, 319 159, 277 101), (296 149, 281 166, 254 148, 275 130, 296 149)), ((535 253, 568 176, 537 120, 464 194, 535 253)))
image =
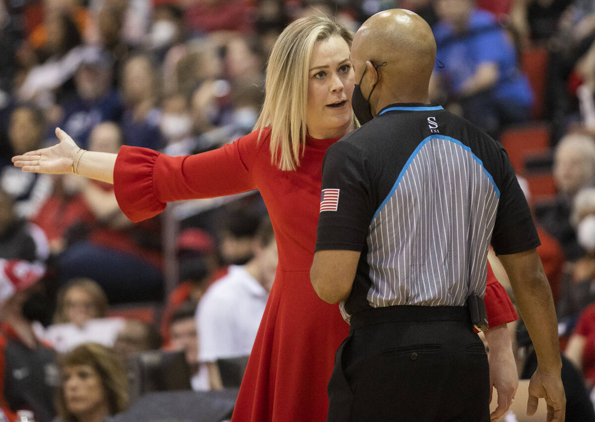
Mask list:
MULTIPOLYGON (((58 385, 55 351, 36 337, 30 316, 25 312, 42 272, 30 268, 5 268, 4 275, 15 281, 15 291, 1 307, 0 324, 0 406, 9 420, 15 412, 30 409, 39 422, 55 416, 53 395, 58 385), (7 272, 8 269, 8 272, 7 272), (29 280, 26 280, 26 279, 29 280), (22 288, 19 288, 22 286, 22 288)), ((35 298, 35 300, 39 300, 35 298)))

